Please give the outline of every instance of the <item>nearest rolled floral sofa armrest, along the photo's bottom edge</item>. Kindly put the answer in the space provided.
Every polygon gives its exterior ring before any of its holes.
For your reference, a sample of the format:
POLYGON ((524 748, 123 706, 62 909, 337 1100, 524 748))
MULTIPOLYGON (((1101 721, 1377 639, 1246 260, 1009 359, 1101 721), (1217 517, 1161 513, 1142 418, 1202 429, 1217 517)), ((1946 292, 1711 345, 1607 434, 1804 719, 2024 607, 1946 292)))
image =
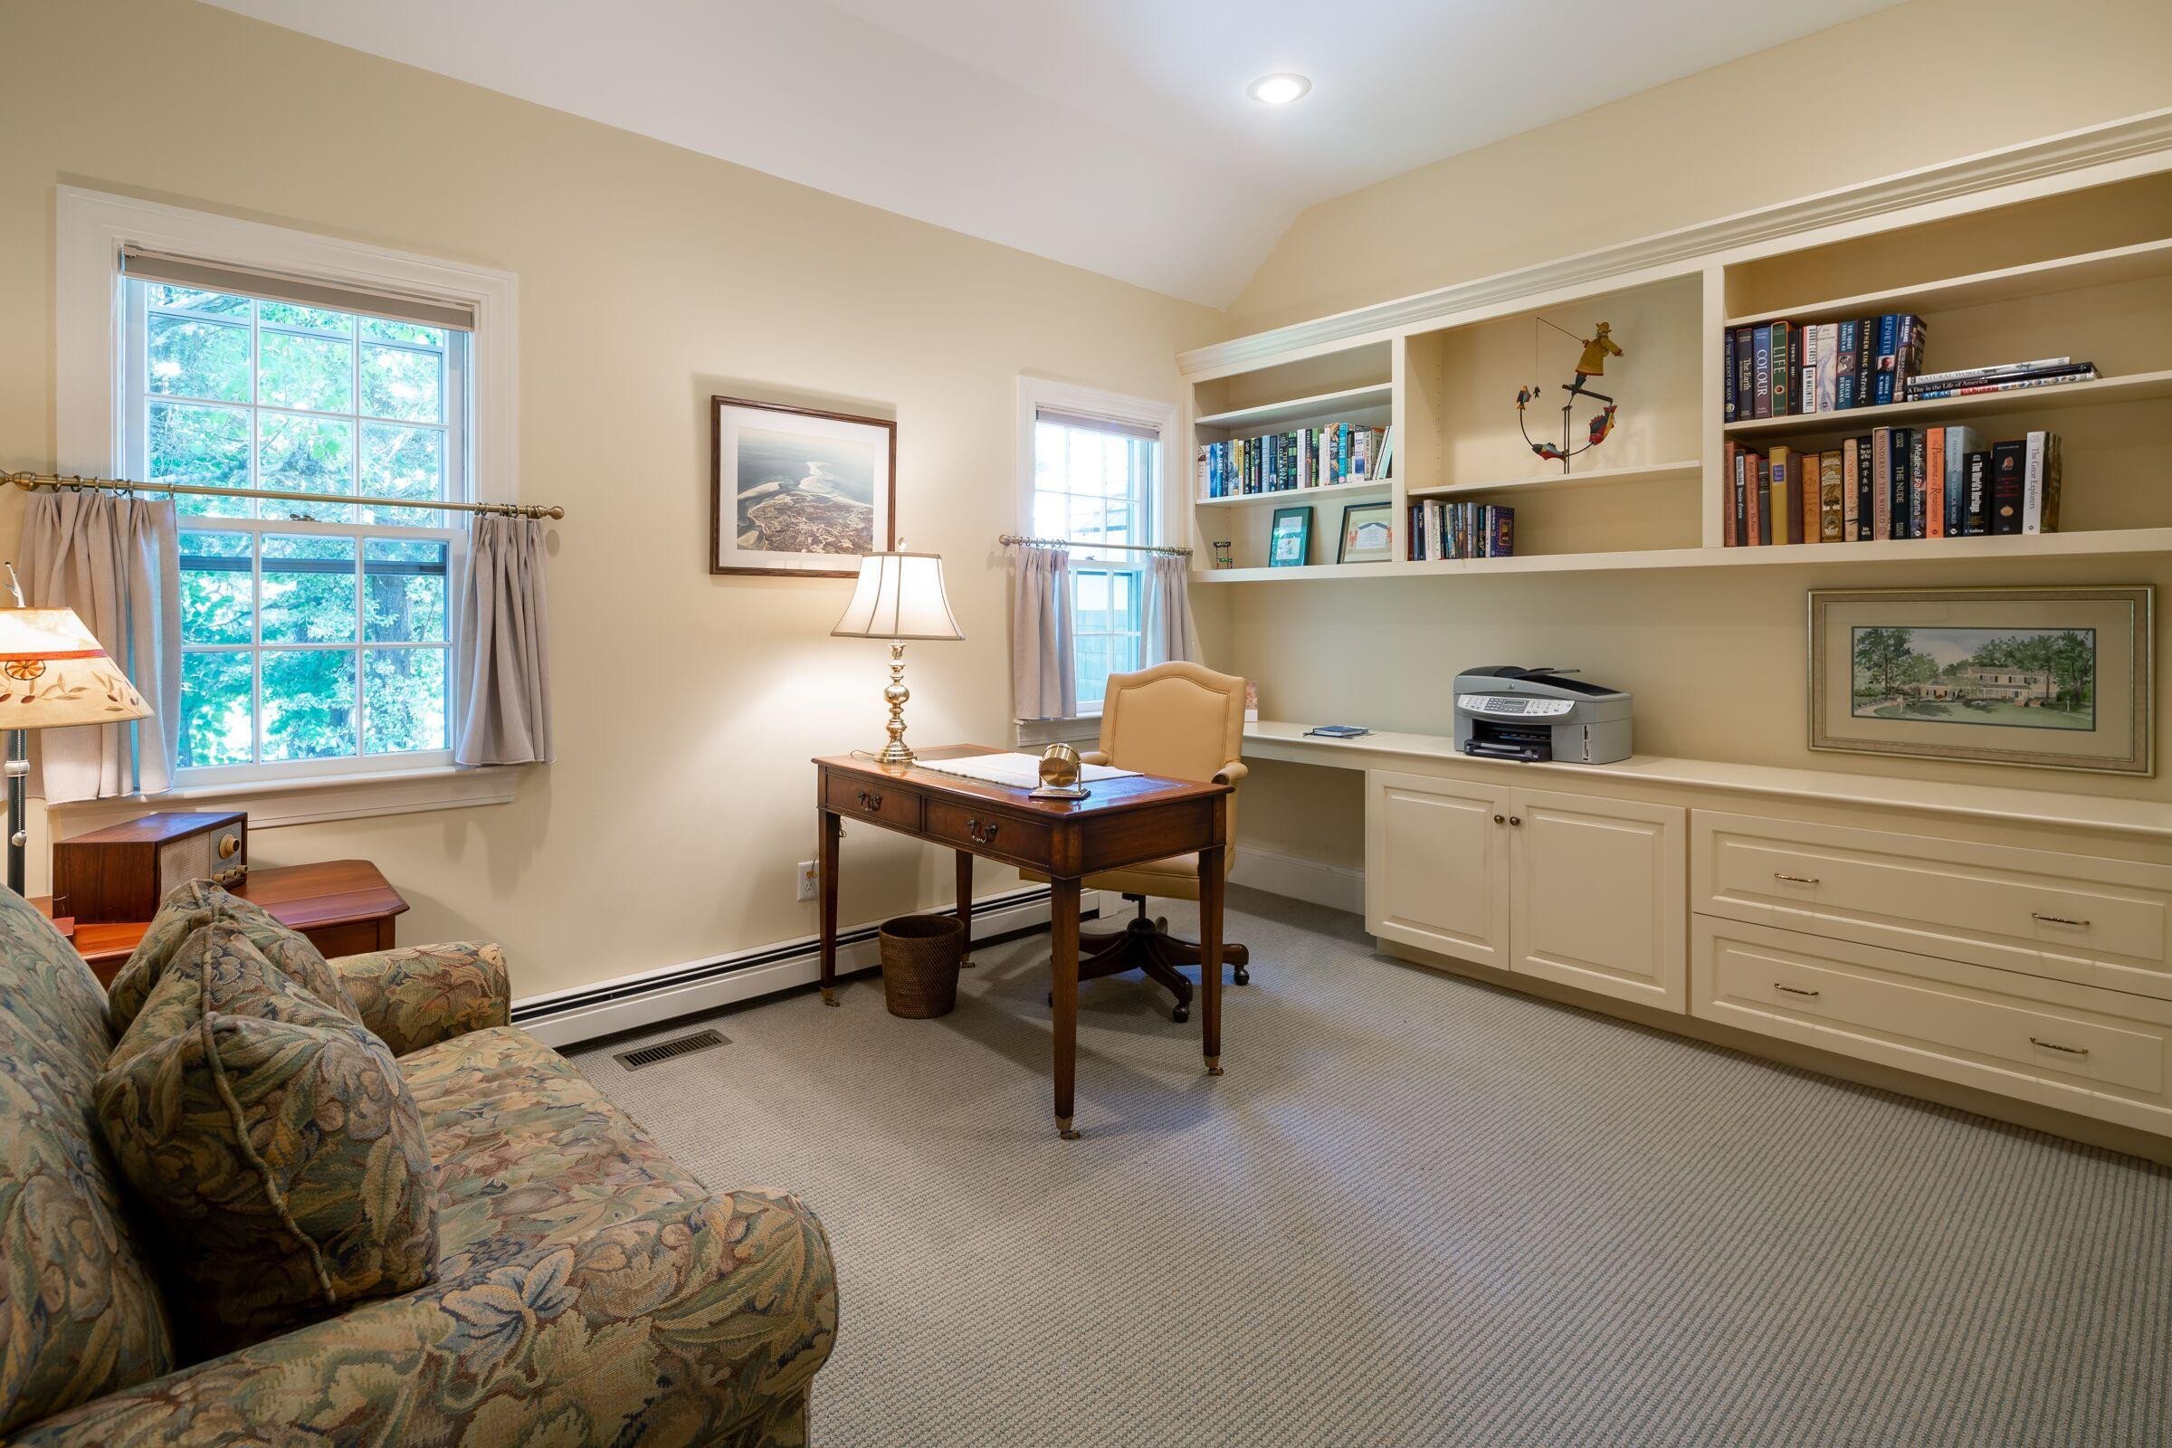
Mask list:
POLYGON ((795 1198, 734 1192, 28 1424, 13 1444, 804 1444, 836 1270, 795 1198))

